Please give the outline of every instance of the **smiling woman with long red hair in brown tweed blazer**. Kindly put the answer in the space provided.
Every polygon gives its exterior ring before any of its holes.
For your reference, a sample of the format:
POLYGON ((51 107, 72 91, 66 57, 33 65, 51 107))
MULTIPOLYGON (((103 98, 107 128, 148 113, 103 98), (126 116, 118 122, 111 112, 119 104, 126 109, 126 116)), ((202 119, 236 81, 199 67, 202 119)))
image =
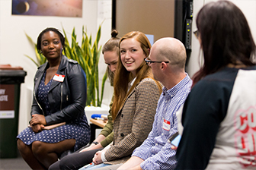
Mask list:
POLYGON ((162 93, 161 84, 153 79, 152 70, 144 61, 150 48, 149 39, 139 31, 126 33, 120 39, 112 106, 114 143, 98 151, 94 165, 88 169, 126 162, 133 150, 148 137, 162 93))

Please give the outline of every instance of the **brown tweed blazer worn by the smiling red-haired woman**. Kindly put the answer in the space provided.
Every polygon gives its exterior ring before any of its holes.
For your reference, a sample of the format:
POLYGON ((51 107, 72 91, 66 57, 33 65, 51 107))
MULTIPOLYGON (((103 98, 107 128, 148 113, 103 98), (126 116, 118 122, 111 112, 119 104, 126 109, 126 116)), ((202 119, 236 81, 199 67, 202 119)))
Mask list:
POLYGON ((152 78, 140 81, 114 120, 114 144, 105 152, 107 164, 126 162, 152 130, 162 90, 152 78))

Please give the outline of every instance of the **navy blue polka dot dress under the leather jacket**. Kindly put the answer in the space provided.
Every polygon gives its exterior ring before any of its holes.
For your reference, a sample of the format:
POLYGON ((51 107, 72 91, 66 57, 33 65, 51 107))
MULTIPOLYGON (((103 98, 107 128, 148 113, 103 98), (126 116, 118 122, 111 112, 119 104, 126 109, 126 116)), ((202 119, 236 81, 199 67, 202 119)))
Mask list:
MULTIPOLYGON (((40 81, 40 85, 37 90, 37 99, 42 106, 43 112, 45 112, 46 115, 50 115, 48 92, 53 79, 45 85, 45 76, 46 72, 43 74, 43 78, 40 81)), ((85 146, 89 142, 90 135, 90 128, 88 128, 87 118, 85 114, 82 114, 81 117, 75 118, 75 120, 71 121, 69 124, 65 124, 50 130, 44 130, 39 133, 34 133, 32 128, 26 128, 24 131, 18 134, 17 138, 21 139, 27 145, 30 145, 34 141, 58 143, 62 140, 75 139, 75 151, 82 146, 85 146)))

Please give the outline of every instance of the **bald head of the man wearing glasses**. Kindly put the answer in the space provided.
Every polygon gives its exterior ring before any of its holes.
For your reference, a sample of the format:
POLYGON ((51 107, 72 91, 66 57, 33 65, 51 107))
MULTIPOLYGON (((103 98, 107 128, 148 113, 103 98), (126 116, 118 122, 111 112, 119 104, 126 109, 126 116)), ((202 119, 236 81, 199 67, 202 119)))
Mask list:
POLYGON ((175 68, 184 68, 186 63, 186 49, 183 43, 175 38, 158 39, 152 46, 152 52, 157 56, 158 61, 170 61, 168 65, 175 68))

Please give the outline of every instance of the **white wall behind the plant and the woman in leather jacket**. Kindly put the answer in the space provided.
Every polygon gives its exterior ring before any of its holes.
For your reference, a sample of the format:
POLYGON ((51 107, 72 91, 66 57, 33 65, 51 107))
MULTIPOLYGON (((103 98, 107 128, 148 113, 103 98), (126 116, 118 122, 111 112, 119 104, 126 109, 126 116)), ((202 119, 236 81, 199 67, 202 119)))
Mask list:
MULTIPOLYGON (((25 33, 36 42, 40 31, 46 27, 56 27, 62 30, 63 26, 69 37, 69 33, 72 33, 72 29, 75 27, 78 42, 81 42, 82 26, 87 27, 88 33, 91 33, 92 39, 94 39, 98 26, 103 20, 100 45, 103 45, 110 38, 111 0, 83 0, 82 17, 11 15, 11 0, 0 0, 0 64, 21 66, 24 71, 27 71, 25 83, 21 84, 19 132, 26 128, 27 122, 30 120, 31 90, 34 86, 34 74, 37 71, 37 66, 24 56, 26 54, 36 60, 34 49, 30 46, 25 33)), ((99 72, 100 77, 102 77, 107 67, 102 55, 100 62, 99 72)), ((109 82, 107 82, 106 95, 104 94, 105 104, 110 101, 111 90, 109 82)))

